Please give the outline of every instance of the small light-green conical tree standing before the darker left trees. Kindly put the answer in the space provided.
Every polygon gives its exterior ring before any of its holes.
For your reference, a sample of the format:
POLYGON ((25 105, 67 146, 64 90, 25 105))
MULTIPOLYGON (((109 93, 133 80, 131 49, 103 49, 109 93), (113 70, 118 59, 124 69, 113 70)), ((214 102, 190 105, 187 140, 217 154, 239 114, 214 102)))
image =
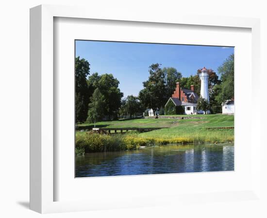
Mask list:
POLYGON ((87 121, 94 123, 94 127, 96 127, 96 122, 100 121, 104 116, 104 106, 105 99, 104 95, 100 93, 100 90, 97 88, 92 97, 90 98, 91 103, 88 105, 88 117, 87 121))

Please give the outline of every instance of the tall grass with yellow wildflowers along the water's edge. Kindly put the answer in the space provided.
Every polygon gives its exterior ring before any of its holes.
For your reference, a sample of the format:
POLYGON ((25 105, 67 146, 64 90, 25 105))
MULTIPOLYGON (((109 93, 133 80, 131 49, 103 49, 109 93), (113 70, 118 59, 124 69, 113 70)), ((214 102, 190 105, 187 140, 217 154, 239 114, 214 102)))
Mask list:
POLYGON ((141 146, 186 144, 186 143, 224 143, 233 142, 234 134, 227 131, 210 131, 205 134, 193 133, 183 136, 149 137, 138 133, 100 135, 97 133, 76 132, 76 155, 92 152, 125 151, 139 149, 141 146))

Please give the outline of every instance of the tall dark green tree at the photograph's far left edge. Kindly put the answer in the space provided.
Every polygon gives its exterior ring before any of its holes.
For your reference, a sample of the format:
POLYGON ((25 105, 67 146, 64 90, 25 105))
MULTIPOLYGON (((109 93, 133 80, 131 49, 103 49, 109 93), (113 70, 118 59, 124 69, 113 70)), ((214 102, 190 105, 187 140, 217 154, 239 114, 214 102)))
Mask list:
POLYGON ((75 121, 84 122, 87 117, 89 103, 89 89, 87 77, 89 76, 90 64, 80 57, 75 58, 75 121))

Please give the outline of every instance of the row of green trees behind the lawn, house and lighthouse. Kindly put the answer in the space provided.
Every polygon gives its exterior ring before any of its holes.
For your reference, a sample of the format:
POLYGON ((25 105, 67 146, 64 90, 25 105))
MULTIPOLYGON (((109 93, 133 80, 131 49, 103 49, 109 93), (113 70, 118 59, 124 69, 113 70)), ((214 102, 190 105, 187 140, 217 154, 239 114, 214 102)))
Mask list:
MULTIPOLYGON (((119 115, 140 115, 146 109, 160 109, 167 103, 176 88, 190 89, 194 85, 195 93, 200 96, 200 73, 183 77, 173 67, 162 67, 160 63, 149 66, 149 78, 143 82, 143 89, 138 96, 129 95, 123 98, 118 88, 119 81, 112 74, 93 73, 90 75, 90 64, 85 59, 75 59, 75 112, 76 123, 86 120, 96 123, 103 116, 116 119, 119 115)), ((217 73, 208 69, 209 96, 207 105, 212 113, 221 112, 221 103, 234 97, 234 54, 230 55, 218 68, 217 73)))

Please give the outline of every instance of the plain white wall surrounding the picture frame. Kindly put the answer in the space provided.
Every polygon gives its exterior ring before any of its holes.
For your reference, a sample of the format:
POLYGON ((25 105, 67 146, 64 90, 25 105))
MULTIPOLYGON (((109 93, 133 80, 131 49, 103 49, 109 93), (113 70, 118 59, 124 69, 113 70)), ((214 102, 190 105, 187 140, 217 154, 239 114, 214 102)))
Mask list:
MULTIPOLYGON (((177 207, 150 207, 139 209, 106 210, 66 214, 39 215, 28 208, 29 203, 29 8, 38 4, 87 5, 90 10, 99 10, 100 14, 112 10, 126 14, 157 13, 159 16, 177 13, 192 15, 219 15, 261 18, 261 71, 265 72, 267 60, 267 13, 264 0, 5 0, 0 6, 0 145, 1 145, 1 186, 0 217, 266 217, 262 210, 267 203, 258 201, 215 202, 202 204, 196 202, 194 208, 185 204, 177 207), (208 208, 208 209, 207 209, 208 208), (227 208, 222 210, 222 208, 227 208), (219 211, 219 213, 218 213, 219 211)), ((141 32, 140 32, 141 33, 141 32)), ((179 65, 178 65, 179 67, 179 65)), ((202 67, 202 66, 200 66, 202 67)), ((179 69, 178 69, 179 70, 179 69)), ((147 72, 144 72, 147 73, 147 72)), ((258 73, 258 72, 257 72, 258 73)), ((262 81, 267 81, 263 74, 262 81)), ((263 84, 259 87, 265 87, 263 84)), ((52 87, 51 87, 52 88, 52 87)), ((141 88, 141 87, 140 87, 141 88)), ((260 88, 259 88, 260 89, 260 88)), ((263 90, 262 90, 263 91, 263 90)), ((255 96, 256 97, 256 96, 255 96)), ((238 100, 238 99, 236 99, 238 100)), ((262 108, 266 108, 262 102, 262 108)), ((262 117, 267 123, 267 117, 262 117)), ((264 126, 261 128, 264 130, 264 126)), ((266 154, 266 147, 262 148, 266 154), (265 150, 264 150, 265 149, 265 150)), ((262 158, 267 166, 267 158, 262 158)), ((238 169, 237 169, 238 170, 238 169)), ((266 173, 262 174, 264 183, 266 173)), ((194 185, 196 181, 192 181, 194 185)), ((139 184, 137 184, 139 185, 139 184)), ((165 184, 166 185, 166 184, 165 184)), ((263 189, 266 192, 266 188, 263 189)), ((127 190, 126 190, 127 191, 127 190)), ((200 190, 201 191, 201 190, 200 190)), ((192 196, 193 197, 193 196, 192 196)))

